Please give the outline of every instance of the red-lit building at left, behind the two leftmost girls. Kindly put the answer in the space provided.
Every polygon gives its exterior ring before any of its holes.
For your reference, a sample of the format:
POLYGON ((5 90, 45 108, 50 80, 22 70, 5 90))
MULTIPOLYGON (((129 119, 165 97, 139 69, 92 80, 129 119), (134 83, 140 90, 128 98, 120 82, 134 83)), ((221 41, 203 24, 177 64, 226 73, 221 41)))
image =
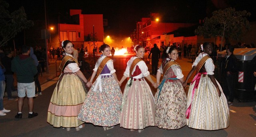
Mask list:
POLYGON ((60 43, 63 40, 70 40, 75 48, 87 47, 89 53, 92 52, 94 47, 103 43, 102 14, 82 14, 82 10, 70 10, 70 16, 79 18, 79 24, 58 24, 60 43), (93 39, 95 43, 93 43, 93 39))

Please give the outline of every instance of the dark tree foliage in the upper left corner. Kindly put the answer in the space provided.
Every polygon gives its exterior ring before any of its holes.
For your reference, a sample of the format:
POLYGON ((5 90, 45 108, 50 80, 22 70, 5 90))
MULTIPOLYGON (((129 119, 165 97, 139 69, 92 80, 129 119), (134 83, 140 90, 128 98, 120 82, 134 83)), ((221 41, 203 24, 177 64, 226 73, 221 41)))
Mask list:
POLYGON ((24 7, 10 12, 7 10, 9 4, 6 1, 0 1, 0 47, 14 38, 18 32, 34 25, 32 20, 27 20, 24 7))

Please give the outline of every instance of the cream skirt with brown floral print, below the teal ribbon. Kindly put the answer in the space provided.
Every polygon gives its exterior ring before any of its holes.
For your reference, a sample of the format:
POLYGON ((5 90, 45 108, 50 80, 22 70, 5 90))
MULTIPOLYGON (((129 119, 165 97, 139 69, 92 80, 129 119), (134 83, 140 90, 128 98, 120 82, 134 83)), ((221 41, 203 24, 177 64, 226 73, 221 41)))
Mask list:
POLYGON ((180 80, 164 83, 159 95, 155 95, 156 126, 163 129, 179 129, 186 125, 187 97, 180 80), (158 97, 159 96, 159 97, 158 97))

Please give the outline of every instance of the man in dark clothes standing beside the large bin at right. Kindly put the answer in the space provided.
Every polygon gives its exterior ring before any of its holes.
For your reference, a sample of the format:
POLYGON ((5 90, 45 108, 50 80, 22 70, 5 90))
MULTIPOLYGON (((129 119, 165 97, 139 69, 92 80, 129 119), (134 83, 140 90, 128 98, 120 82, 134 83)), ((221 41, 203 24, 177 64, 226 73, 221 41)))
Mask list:
POLYGON ((226 50, 227 57, 223 60, 224 72, 226 75, 226 88, 224 88, 224 93, 229 96, 228 106, 233 104, 234 100, 234 85, 235 85, 235 76, 237 73, 237 59, 233 54, 234 47, 232 45, 228 46, 226 50))

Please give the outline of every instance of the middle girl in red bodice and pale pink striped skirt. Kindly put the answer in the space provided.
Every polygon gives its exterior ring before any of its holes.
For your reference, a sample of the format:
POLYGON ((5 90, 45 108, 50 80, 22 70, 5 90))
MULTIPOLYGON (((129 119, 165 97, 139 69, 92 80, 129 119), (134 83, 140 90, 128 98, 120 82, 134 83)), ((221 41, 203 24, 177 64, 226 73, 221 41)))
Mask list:
POLYGON ((148 126, 155 126, 154 96, 146 77, 155 86, 156 83, 150 77, 146 63, 141 59, 144 57, 145 49, 138 45, 135 47, 136 56, 131 57, 127 63, 124 76, 119 85, 127 78, 128 80, 123 95, 122 111, 120 114, 120 127, 126 129, 139 129, 139 133, 148 126))

